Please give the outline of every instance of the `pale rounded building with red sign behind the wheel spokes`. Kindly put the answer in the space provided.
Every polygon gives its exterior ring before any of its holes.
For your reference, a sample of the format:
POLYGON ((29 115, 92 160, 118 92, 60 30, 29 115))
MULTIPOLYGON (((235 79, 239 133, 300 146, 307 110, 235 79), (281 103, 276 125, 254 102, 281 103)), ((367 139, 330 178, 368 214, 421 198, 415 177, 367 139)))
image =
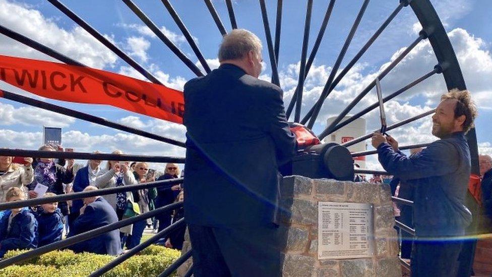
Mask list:
MULTIPOLYGON (((343 118, 343 121, 350 119, 351 116, 346 116, 343 118)), ((334 120, 336 119, 336 116, 328 118, 326 123, 327 126, 329 126, 334 120)), ((335 142, 338 144, 342 144, 348 141, 353 140, 354 138, 361 137, 366 134, 365 131, 365 119, 363 118, 358 118, 352 123, 344 126, 343 128, 333 132, 332 134, 326 136, 323 139, 323 143, 328 143, 328 142, 335 142)), ((367 149, 367 145, 365 141, 361 141, 357 144, 354 144, 350 147, 348 147, 348 150, 350 152, 359 152, 359 151, 365 151, 367 149)), ((354 163, 358 164, 361 169, 365 169, 365 156, 360 156, 360 157, 355 157, 354 158, 354 163)))

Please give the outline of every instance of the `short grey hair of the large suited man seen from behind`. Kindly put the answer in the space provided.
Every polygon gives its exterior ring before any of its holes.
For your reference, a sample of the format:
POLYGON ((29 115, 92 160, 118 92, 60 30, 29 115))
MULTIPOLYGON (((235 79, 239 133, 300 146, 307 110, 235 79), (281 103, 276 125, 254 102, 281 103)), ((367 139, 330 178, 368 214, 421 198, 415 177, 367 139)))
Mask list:
POLYGON ((260 53, 261 40, 254 33, 245 29, 234 29, 222 39, 219 48, 219 62, 242 59, 250 51, 260 53))

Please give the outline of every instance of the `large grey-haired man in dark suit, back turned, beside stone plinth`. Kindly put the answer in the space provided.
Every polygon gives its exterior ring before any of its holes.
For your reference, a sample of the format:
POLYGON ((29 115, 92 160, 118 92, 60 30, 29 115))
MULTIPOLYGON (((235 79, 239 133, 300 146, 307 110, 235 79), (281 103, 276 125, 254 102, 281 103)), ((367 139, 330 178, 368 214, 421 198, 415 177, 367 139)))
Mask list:
POLYGON ((261 41, 235 29, 220 67, 184 85, 184 218, 195 276, 280 274, 276 218, 280 164, 295 152, 282 90, 258 79, 261 41))

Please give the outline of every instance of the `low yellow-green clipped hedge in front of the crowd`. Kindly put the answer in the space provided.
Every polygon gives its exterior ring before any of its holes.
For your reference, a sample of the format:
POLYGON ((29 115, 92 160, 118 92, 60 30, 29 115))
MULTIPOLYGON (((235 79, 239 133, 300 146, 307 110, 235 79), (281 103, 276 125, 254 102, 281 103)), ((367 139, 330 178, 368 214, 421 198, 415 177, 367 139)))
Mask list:
MULTIPOLYGON (((26 250, 14 250, 6 253, 5 258, 13 257, 26 250)), ((122 262, 104 276, 133 277, 156 276, 180 256, 177 250, 151 245, 125 262, 122 262)), ((0 269, 0 276, 9 277, 76 277, 87 276, 114 259, 109 255, 92 253, 75 254, 71 250, 52 251, 33 258, 23 264, 0 269)))

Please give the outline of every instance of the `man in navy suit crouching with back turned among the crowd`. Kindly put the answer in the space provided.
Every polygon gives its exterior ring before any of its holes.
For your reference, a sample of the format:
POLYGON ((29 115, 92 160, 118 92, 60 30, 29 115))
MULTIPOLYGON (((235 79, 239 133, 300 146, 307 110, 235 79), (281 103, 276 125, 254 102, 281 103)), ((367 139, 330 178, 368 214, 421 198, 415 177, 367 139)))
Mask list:
MULTIPOLYGON (((97 190, 94 186, 88 186, 84 191, 97 190)), ((84 206, 80 209, 80 215, 75 219, 70 228, 68 237, 82 234, 96 228, 106 226, 118 221, 118 216, 113 207, 102 197, 84 198, 84 206)), ((79 242, 69 247, 76 253, 90 252, 96 254, 119 255, 121 243, 119 230, 113 230, 95 238, 79 242)))

